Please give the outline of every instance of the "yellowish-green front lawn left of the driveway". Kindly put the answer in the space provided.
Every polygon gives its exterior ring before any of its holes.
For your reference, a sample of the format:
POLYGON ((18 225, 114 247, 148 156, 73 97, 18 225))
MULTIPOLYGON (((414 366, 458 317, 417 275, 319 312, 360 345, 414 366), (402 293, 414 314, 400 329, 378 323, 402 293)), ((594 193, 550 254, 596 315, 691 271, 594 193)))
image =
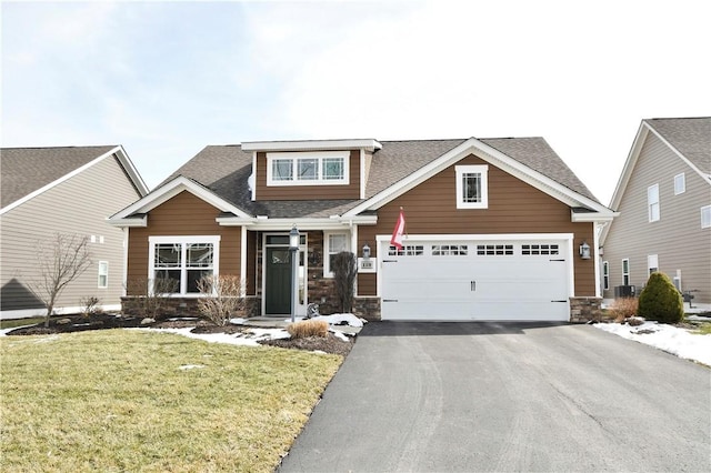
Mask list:
POLYGON ((130 330, 0 338, 0 353, 13 472, 272 472, 342 362, 130 330))

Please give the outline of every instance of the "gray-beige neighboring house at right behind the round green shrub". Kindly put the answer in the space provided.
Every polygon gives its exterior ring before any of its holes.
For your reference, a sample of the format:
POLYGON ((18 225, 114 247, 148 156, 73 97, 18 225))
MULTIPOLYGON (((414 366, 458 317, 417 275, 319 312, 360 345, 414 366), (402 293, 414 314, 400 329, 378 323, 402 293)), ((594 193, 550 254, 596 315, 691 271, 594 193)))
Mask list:
MULTIPOLYGON (((600 236, 604 299, 661 271, 711 308, 711 118, 642 120, 600 236)), ((689 300, 685 306, 689 308, 689 300)))

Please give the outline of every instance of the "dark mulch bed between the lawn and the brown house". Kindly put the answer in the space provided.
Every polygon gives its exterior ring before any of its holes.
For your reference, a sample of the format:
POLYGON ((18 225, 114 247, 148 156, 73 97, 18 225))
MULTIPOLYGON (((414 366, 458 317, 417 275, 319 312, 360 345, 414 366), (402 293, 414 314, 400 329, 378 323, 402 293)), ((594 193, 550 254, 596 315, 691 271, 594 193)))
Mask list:
MULTIPOLYGON (((233 324, 220 326, 209 321, 194 319, 170 321, 166 320, 153 322, 150 324, 141 324, 142 320, 143 318, 140 316, 124 316, 113 313, 97 313, 89 316, 54 316, 50 319, 48 328, 46 328, 44 323, 41 322, 36 325, 22 326, 11 330, 7 333, 7 335, 48 335, 54 333, 83 332, 87 330, 133 329, 139 326, 150 329, 184 329, 192 326, 194 328, 193 330, 191 330, 192 333, 228 334, 242 333, 250 329, 246 325, 233 324)), ((349 338, 349 341, 343 341, 332 333, 329 333, 327 338, 308 336, 303 339, 264 340, 258 343, 262 345, 280 346, 283 349, 321 351, 324 353, 340 354, 342 356, 346 356, 353 348, 354 342, 354 338, 349 338)))

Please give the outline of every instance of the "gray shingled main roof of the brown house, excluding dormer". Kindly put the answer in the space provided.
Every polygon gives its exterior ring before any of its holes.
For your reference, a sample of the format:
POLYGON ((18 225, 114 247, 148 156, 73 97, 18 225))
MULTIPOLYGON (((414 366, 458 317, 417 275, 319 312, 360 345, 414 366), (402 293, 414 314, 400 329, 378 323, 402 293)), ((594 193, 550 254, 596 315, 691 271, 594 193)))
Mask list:
MULTIPOLYGON (((427 179, 431 175, 430 170, 441 164, 443 160, 457 159, 459 157, 457 153, 473 150, 480 154, 491 154, 508 160, 509 168, 515 168, 519 174, 535 175, 534 184, 541 185, 544 182, 548 185, 547 192, 554 193, 558 198, 568 197, 568 201, 573 207, 609 212, 609 209, 600 204, 542 138, 481 140, 470 138, 379 141, 378 143, 381 148, 375 148, 372 154, 365 183, 365 199, 252 201, 248 182, 252 173, 253 147, 247 144, 244 150, 239 144, 230 144, 206 147, 151 192, 156 195, 142 199, 142 204, 132 207, 132 210, 138 212, 140 207, 140 211, 144 212, 158 205, 159 201, 164 201, 160 194, 169 190, 166 185, 184 178, 199 183, 224 202, 241 210, 243 214, 253 218, 258 215, 269 219, 323 219, 333 215, 354 218, 369 214, 378 207, 373 207, 373 202, 383 202, 383 199, 397 197, 394 192, 407 185, 413 175, 421 174, 422 179, 427 179), (151 201, 153 204, 150 203, 151 201)), ((129 215, 122 211, 114 217, 129 215)))

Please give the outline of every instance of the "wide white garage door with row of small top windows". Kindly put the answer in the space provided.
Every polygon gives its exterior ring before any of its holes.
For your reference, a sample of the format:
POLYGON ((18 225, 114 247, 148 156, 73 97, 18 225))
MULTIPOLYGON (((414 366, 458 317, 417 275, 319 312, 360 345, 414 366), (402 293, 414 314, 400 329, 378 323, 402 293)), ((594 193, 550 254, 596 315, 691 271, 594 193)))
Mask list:
POLYGON ((565 240, 381 246, 382 320, 568 321, 565 240))

